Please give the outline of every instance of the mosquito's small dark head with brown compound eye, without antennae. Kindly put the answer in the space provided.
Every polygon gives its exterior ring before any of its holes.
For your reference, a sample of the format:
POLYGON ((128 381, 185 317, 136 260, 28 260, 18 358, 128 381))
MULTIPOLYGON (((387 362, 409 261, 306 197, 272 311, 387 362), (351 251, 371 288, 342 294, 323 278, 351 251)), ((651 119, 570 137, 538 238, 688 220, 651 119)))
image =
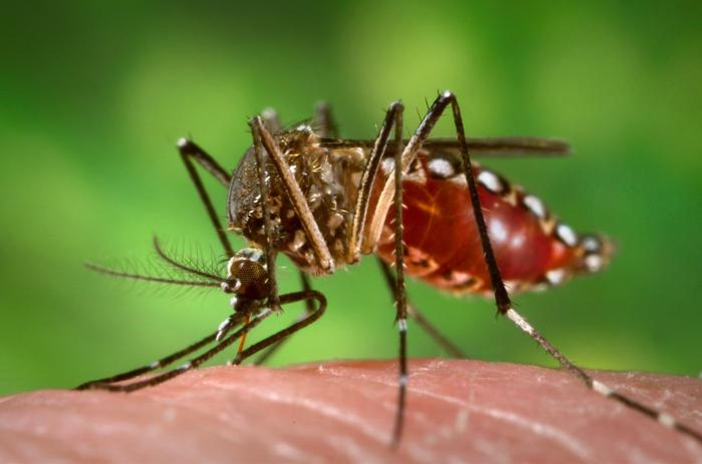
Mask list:
POLYGON ((236 293, 245 300, 263 300, 270 290, 270 277, 265 253, 258 248, 244 248, 227 263, 227 279, 222 283, 226 293, 236 293))

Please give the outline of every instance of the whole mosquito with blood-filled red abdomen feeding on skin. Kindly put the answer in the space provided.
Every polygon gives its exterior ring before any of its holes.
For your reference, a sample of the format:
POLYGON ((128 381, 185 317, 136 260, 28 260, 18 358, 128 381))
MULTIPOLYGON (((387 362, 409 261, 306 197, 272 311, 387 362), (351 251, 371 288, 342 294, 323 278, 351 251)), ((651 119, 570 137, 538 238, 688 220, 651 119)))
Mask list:
POLYGON ((700 432, 585 373, 512 305, 511 293, 544 289, 576 275, 599 272, 609 263, 613 247, 601 234, 578 234, 541 199, 479 166, 471 155, 562 156, 569 152, 569 145, 544 138, 466 138, 458 101, 450 91, 439 93, 409 140, 402 138, 403 111, 401 102, 393 102, 374 140, 338 138, 326 105, 318 107, 312 125, 289 130, 281 128, 274 112, 264 112, 249 121, 253 145, 232 174, 192 140, 180 139, 180 157, 225 251, 226 274, 181 263, 168 256, 155 239, 158 255, 191 278, 88 267, 131 279, 219 287, 231 295, 233 314, 216 331, 178 352, 78 388, 131 392, 158 385, 197 368, 237 340, 239 348, 230 364, 241 364, 258 353, 255 364, 260 364, 287 337, 324 314, 326 298, 312 289, 309 275, 332 274, 376 253, 395 299, 399 332, 394 446, 399 444, 404 425, 407 318, 415 319, 450 354, 462 355, 411 305, 406 275, 442 291, 492 296, 498 314, 516 324, 591 390, 702 443, 700 432), (432 128, 449 107, 456 138, 430 139, 432 128), (221 225, 195 163, 227 188, 227 227, 221 225), (235 252, 227 231, 243 234, 249 246, 235 252), (299 267, 301 291, 278 293, 277 253, 284 253, 299 267), (305 312, 296 322, 246 347, 247 333, 284 305, 299 301, 305 302, 305 312), (176 369, 135 379, 212 344, 176 369))

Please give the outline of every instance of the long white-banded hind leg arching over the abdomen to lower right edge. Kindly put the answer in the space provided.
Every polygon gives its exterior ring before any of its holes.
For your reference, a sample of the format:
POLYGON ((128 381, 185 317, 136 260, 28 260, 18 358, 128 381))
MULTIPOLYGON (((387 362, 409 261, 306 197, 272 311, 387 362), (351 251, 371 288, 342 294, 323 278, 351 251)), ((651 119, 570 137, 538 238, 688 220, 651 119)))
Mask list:
MULTIPOLYGON (((573 364, 573 362, 571 362, 567 357, 565 357, 564 354, 559 352, 559 350, 557 350, 553 345, 551 345, 548 342, 548 340, 543 338, 543 336, 541 336, 541 334, 538 333, 534 329, 534 327, 532 327, 531 324, 529 324, 529 322, 527 322, 527 319, 524 319, 524 317, 522 317, 517 311, 515 311, 514 307, 512 307, 512 302, 508 295, 507 289, 505 288, 505 284, 503 283, 500 270, 498 269, 494 252, 492 250, 492 246, 488 237, 487 227, 482 212, 482 206, 480 205, 479 197, 477 194, 477 187, 475 185, 475 176, 473 175, 472 166, 470 164, 468 144, 465 139, 465 132, 463 131, 463 120, 461 119, 461 110, 458 107, 458 102, 456 101, 456 97, 455 95, 453 95, 453 93, 448 91, 442 93, 435 100, 432 107, 430 107, 427 115, 420 123, 420 126, 417 129, 415 135, 411 138, 409 144, 404 150, 404 154, 402 156, 403 170, 407 168, 409 164, 411 164, 411 162, 415 159, 418 148, 421 147, 422 142, 426 140, 426 138, 428 137, 428 133, 431 131, 432 127, 434 126, 434 124, 439 119, 441 114, 444 112, 444 109, 448 105, 451 105, 451 110, 453 112, 453 122, 456 126, 456 135, 458 136, 458 142, 460 142, 461 145, 463 171, 465 174, 466 181, 468 183, 468 188, 470 190, 470 201, 472 204, 473 216, 475 219, 475 223, 477 224, 477 229, 479 232, 479 237, 485 256, 485 263, 489 270, 491 283, 494 289, 495 302, 498 307, 499 314, 503 314, 506 317, 508 317, 510 321, 514 322, 519 327, 519 329, 522 329, 522 331, 527 333, 527 335, 534 339, 536 343, 541 345, 543 350, 548 352, 548 354, 550 354, 554 359, 556 359, 561 366, 567 369, 567 371, 574 373, 574 375, 580 378, 583 381, 583 383, 585 383, 585 385, 590 387, 590 389, 594 390, 597 393, 600 393, 601 395, 615 399, 617 402, 620 402, 621 404, 624 404, 625 406, 628 406, 631 409, 640 411, 646 416, 657 420, 659 423, 665 425, 666 427, 674 428, 675 430, 689 435, 690 437, 696 439, 698 442, 702 443, 702 434, 700 432, 692 430, 690 427, 687 427, 687 425, 678 423, 677 420, 675 420, 675 418, 673 418, 672 416, 666 413, 656 411, 655 409, 652 409, 649 406, 637 402, 635 399, 631 399, 630 397, 622 395, 621 393, 614 391, 613 389, 611 389, 611 387, 605 385, 599 380, 595 380, 594 378, 590 377, 588 373, 585 373, 585 371, 578 368, 578 366, 573 364)), ((398 164, 396 164, 396 166, 398 166, 398 164)), ((390 185, 391 189, 392 184, 387 183, 385 187, 388 187, 388 185, 390 185)))

